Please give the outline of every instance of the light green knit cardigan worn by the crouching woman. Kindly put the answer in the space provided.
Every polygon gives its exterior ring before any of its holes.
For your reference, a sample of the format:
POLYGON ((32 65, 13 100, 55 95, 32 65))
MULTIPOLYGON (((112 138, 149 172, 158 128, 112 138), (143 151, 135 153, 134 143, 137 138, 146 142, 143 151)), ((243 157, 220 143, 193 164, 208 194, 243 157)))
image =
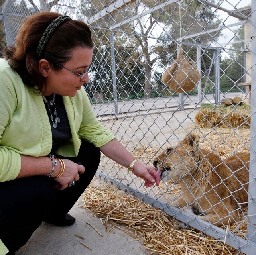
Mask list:
MULTIPOLYGON (((80 139, 100 147, 115 138, 96 119, 83 88, 72 98, 63 96, 63 102, 72 139, 65 142, 57 154, 77 156, 80 139)), ((51 147, 51 126, 42 96, 25 86, 8 62, 0 59, 0 182, 17 177, 20 155, 46 156, 51 147)), ((0 240, 0 255, 7 252, 0 240)))

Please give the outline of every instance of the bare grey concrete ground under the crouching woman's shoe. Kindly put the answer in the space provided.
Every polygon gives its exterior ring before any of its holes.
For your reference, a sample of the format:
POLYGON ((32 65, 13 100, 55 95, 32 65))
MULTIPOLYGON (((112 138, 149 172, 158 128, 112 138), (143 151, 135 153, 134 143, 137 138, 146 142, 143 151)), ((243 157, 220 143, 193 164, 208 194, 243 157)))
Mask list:
MULTIPOLYGON (((79 202, 78 202, 79 203, 79 202)), ((75 224, 69 227, 57 227, 43 222, 33 233, 26 247, 24 245, 16 255, 146 255, 148 251, 141 243, 130 237, 126 232, 115 228, 107 233, 100 218, 92 212, 75 204, 70 214, 76 218, 75 224), (103 235, 99 235, 89 222, 103 235), (75 234, 83 237, 81 239, 75 234), (85 247, 82 243, 91 249, 85 247), (26 248, 26 249, 25 249, 26 248), (24 251, 25 250, 25 251, 24 251)))

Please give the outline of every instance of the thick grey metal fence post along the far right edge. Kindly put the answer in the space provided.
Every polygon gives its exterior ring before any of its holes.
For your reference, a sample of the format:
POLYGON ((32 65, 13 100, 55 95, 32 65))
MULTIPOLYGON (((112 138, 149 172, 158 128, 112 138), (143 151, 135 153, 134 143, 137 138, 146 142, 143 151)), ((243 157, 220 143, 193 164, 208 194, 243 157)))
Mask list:
POLYGON ((251 139, 250 139, 250 177, 248 198, 247 237, 256 243, 256 1, 252 1, 252 42, 249 45, 252 53, 252 94, 251 94, 251 139))

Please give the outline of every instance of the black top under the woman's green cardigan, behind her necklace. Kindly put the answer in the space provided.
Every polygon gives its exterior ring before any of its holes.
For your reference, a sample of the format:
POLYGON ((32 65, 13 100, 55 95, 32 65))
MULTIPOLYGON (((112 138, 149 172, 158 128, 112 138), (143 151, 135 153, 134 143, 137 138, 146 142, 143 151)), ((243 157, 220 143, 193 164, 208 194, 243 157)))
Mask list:
MULTIPOLYGON (((53 99, 53 95, 45 96, 45 98, 47 101, 51 101, 53 99)), ((56 105, 57 116, 60 118, 60 122, 58 123, 58 126, 56 128, 53 128, 53 122, 50 119, 51 115, 49 114, 48 107, 45 103, 45 108, 51 124, 51 133, 53 137, 53 146, 51 148, 51 153, 54 153, 59 148, 61 143, 63 143, 63 141, 70 140, 72 138, 69 120, 67 118, 67 112, 62 100, 62 96, 56 94, 54 102, 56 105)), ((54 111, 53 109, 54 106, 51 106, 52 112, 54 111)))

